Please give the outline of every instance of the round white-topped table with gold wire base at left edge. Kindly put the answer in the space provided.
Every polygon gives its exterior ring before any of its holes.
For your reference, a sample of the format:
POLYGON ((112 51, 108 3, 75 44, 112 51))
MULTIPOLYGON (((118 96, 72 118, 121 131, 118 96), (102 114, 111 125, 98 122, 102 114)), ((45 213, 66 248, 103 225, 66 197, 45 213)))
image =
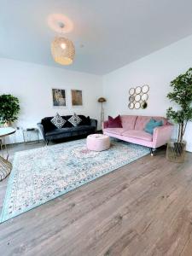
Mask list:
POLYGON ((0 181, 9 175, 12 165, 9 162, 9 151, 5 142, 5 137, 14 134, 12 127, 0 128, 0 181))

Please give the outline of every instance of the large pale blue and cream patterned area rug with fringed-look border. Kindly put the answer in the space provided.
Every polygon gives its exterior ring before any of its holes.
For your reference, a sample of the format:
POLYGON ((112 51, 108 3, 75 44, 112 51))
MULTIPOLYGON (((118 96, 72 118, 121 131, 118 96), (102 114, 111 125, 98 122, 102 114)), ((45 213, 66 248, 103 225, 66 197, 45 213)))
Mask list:
POLYGON ((20 151, 3 204, 0 222, 102 177, 148 154, 148 148, 112 141, 111 148, 90 151, 85 140, 20 151))

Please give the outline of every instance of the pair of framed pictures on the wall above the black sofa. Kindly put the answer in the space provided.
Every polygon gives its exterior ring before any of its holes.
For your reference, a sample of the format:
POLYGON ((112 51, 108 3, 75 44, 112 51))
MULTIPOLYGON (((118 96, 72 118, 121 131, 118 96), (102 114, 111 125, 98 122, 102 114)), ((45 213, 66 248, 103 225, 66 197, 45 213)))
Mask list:
MULTIPOLYGON (((67 107, 67 90, 52 89, 53 107, 67 107)), ((72 107, 83 106, 82 90, 71 90, 72 107)))

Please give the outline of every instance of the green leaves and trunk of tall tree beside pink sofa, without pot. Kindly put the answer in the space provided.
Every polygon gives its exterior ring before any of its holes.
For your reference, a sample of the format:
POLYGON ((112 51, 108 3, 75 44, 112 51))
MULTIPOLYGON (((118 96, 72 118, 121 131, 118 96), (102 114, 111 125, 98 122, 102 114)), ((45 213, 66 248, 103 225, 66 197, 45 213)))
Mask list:
POLYGON ((167 97, 176 102, 178 110, 168 108, 166 116, 178 125, 177 143, 183 143, 183 135, 189 121, 192 121, 192 67, 171 82, 172 92, 167 97))

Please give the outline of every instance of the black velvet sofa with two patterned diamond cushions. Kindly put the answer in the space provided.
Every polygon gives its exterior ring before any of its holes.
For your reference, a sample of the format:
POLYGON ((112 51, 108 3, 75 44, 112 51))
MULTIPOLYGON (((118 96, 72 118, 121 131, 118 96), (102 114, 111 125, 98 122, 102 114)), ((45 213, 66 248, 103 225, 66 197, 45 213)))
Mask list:
MULTIPOLYGON (((62 116, 63 119, 68 120, 72 115, 62 116)), ((70 122, 66 122, 62 128, 58 129, 50 122, 53 117, 45 117, 38 123, 38 128, 44 137, 44 142, 49 143, 50 140, 61 139, 65 137, 87 136, 96 132, 97 120, 90 119, 84 115, 79 115, 82 119, 78 126, 73 126, 70 122)))

